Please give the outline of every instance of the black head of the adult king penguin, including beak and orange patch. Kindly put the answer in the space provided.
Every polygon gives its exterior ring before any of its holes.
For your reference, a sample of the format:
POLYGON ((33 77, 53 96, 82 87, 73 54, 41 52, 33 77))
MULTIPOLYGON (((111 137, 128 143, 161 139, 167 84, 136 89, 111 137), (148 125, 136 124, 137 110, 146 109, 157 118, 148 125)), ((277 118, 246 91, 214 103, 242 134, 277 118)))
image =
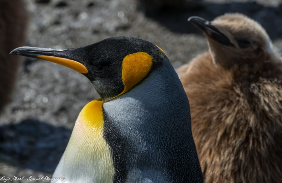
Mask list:
POLYGON ((133 37, 108 38, 71 49, 20 47, 10 54, 48 60, 84 74, 103 102, 128 92, 166 60, 159 47, 133 37))

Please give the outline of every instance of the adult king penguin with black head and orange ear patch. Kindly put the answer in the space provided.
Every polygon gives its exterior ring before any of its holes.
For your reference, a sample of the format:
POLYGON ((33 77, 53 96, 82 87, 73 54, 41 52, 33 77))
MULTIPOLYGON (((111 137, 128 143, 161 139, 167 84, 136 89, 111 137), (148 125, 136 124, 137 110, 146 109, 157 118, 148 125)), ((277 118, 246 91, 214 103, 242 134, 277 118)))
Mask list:
POLYGON ((20 47, 84 74, 100 99, 80 112, 53 177, 64 183, 199 183, 189 102, 165 53, 116 37, 74 49, 20 47))

